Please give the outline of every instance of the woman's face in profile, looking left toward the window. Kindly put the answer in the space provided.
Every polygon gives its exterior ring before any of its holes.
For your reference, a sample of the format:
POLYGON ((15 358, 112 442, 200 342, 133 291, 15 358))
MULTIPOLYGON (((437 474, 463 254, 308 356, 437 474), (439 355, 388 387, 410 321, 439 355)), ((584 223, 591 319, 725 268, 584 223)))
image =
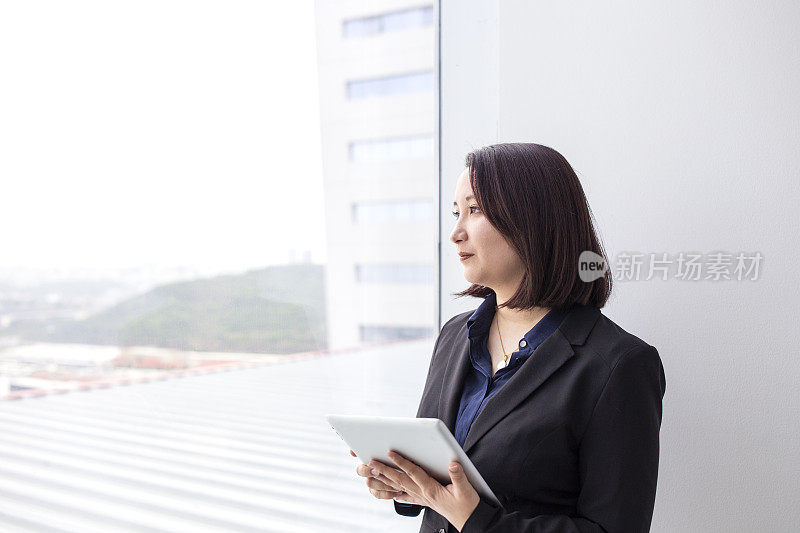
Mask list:
POLYGON ((464 266, 464 278, 497 293, 506 292, 507 287, 517 287, 525 271, 522 260, 478 207, 469 183, 468 168, 458 177, 453 212, 454 217, 458 213, 458 218, 450 240, 456 245, 457 253, 473 254, 467 259, 459 257, 464 266))

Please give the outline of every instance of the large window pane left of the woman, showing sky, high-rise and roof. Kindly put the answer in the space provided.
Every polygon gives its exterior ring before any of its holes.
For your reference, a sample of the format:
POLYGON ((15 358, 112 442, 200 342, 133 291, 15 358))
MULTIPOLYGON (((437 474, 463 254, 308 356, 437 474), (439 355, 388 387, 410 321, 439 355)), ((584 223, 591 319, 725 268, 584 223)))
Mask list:
POLYGON ((0 531, 419 529, 324 418, 436 332, 435 26, 362 4, 0 8, 0 531))

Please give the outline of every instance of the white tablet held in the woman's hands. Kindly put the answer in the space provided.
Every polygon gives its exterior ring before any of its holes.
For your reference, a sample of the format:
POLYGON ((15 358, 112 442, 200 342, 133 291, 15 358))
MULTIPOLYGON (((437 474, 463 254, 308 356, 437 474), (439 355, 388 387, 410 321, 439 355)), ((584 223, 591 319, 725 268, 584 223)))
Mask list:
POLYGON ((449 485, 447 467, 457 461, 478 494, 502 507, 461 445, 438 418, 326 415, 325 419, 364 464, 375 459, 399 469, 386 456, 389 450, 395 450, 421 466, 432 478, 449 485))

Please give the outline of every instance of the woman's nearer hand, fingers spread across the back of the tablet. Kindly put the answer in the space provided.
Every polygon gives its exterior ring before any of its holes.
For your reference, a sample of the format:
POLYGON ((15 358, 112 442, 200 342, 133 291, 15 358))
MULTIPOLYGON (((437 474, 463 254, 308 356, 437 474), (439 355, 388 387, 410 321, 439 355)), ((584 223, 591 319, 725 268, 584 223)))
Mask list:
POLYGON ((390 487, 402 489, 403 492, 394 497, 405 502, 430 507, 461 531, 464 523, 480 502, 478 492, 467 481, 461 465, 455 461, 450 463, 449 473, 452 483, 444 486, 430 477, 423 468, 399 453, 390 451, 386 455, 402 471, 375 460, 370 461, 368 466, 376 469, 381 476, 388 479, 390 487))

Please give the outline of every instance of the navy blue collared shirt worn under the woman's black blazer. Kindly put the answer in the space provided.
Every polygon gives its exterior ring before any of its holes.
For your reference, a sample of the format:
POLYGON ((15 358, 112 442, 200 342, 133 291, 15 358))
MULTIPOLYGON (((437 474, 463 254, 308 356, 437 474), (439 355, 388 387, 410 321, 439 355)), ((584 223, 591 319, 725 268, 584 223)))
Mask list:
POLYGON ((566 311, 551 309, 522 339, 519 339, 518 346, 516 345, 518 339, 504 339, 504 342, 514 343, 506 345, 506 349, 516 349, 516 351, 509 356, 508 365, 499 369, 492 376, 492 356, 489 354, 486 343, 489 339, 489 327, 492 325, 496 306, 497 295, 492 293, 467 319, 469 358, 472 365, 464 379, 455 431, 456 440, 462 447, 467 440, 467 433, 472 422, 486 406, 489 398, 497 394, 497 391, 528 360, 533 351, 558 329, 567 314, 566 311))

